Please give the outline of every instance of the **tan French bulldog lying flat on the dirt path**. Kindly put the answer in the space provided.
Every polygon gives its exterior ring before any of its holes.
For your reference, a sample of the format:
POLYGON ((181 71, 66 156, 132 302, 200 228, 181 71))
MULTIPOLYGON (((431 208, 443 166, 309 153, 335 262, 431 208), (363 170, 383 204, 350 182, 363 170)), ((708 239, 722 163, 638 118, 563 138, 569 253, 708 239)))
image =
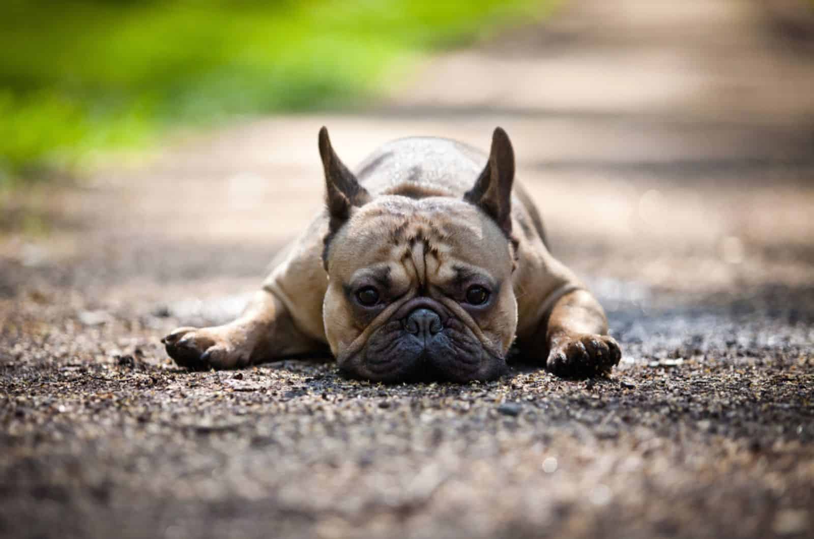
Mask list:
POLYGON ((602 306, 546 247, 503 129, 488 155, 401 138, 356 173, 324 127, 318 142, 326 208, 234 322, 164 337, 179 366, 234 369, 330 349, 348 377, 461 383, 499 377, 510 348, 563 377, 619 363, 602 306))

